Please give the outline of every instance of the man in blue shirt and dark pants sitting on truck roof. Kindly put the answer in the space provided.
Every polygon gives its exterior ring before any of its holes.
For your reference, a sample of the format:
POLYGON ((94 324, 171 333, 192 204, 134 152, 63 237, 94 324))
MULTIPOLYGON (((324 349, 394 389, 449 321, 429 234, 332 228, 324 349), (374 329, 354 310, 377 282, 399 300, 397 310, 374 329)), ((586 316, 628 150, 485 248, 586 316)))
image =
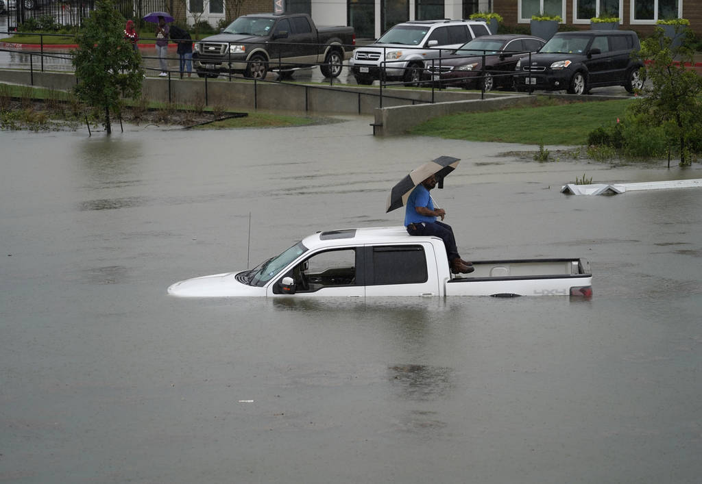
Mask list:
POLYGON ((468 274, 475 270, 470 262, 466 262, 458 255, 456 237, 449 224, 439 222, 437 217, 444 220, 446 210, 434 208, 434 201, 429 194, 430 189, 436 187, 437 180, 431 175, 418 184, 407 199, 404 211, 404 225, 410 235, 434 235, 444 241, 446 256, 449 257, 449 266, 453 274, 468 274))

